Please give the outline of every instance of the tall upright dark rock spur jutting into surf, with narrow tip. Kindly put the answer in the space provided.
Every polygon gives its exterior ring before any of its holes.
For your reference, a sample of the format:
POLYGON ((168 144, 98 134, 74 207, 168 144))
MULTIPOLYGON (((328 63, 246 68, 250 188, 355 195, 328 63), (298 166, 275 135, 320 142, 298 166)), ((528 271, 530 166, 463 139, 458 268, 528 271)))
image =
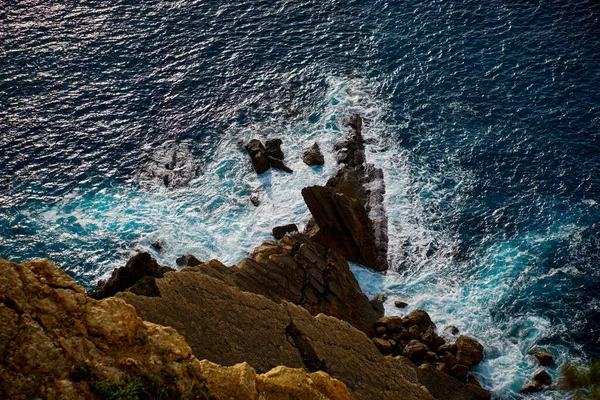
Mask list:
POLYGON ((307 233, 347 260, 377 271, 388 268, 383 171, 366 164, 362 119, 345 121, 349 137, 336 146, 342 167, 323 186, 302 189, 314 221, 307 233))

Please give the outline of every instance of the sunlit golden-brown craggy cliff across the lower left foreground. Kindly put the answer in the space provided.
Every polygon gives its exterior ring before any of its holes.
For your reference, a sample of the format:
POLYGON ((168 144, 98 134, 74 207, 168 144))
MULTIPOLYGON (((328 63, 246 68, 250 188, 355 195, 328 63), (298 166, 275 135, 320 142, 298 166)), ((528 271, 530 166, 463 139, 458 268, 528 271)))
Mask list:
POLYGON ((0 260, 0 271, 3 398, 353 398, 324 372, 198 361, 174 329, 120 299, 90 299, 47 260, 0 260))

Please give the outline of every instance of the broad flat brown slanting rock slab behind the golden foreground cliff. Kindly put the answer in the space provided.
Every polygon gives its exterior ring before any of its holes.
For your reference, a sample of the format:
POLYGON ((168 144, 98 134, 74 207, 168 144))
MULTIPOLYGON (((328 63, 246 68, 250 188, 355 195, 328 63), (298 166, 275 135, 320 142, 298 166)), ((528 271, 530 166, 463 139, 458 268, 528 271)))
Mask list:
POLYGON ((348 323, 324 314, 314 317, 302 307, 241 291, 202 271, 194 267, 157 280, 160 298, 128 292, 119 297, 144 318, 178 329, 201 359, 222 365, 246 361, 259 372, 278 365, 321 370, 345 383, 357 399, 432 399, 414 370, 382 356, 348 323))

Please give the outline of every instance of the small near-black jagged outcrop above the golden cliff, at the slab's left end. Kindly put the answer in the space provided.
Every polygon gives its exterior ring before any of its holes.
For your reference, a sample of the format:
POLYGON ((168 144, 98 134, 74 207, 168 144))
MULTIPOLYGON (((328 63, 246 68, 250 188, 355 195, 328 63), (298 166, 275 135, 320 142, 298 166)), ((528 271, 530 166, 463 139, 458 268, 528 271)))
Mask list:
MULTIPOLYGON (((89 295, 94 299, 114 296, 116 293, 134 286, 142 278, 160 278, 169 271, 174 271, 174 269, 158 265, 148 253, 139 253, 133 256, 124 267, 115 269, 107 282, 98 282, 96 290, 90 292, 89 295)), ((148 280, 145 281, 145 284, 152 285, 148 280)), ((155 291, 152 293, 157 295, 155 291)))

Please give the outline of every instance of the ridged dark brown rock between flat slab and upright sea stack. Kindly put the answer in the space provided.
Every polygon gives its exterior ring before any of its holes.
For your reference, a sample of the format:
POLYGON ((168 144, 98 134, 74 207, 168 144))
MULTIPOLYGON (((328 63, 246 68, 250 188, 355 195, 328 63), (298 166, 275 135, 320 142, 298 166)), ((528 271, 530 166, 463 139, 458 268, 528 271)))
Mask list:
POLYGON ((313 315, 332 315, 374 335, 377 316, 346 260, 304 235, 266 241, 237 266, 213 260, 196 269, 244 291, 301 305, 313 315))

